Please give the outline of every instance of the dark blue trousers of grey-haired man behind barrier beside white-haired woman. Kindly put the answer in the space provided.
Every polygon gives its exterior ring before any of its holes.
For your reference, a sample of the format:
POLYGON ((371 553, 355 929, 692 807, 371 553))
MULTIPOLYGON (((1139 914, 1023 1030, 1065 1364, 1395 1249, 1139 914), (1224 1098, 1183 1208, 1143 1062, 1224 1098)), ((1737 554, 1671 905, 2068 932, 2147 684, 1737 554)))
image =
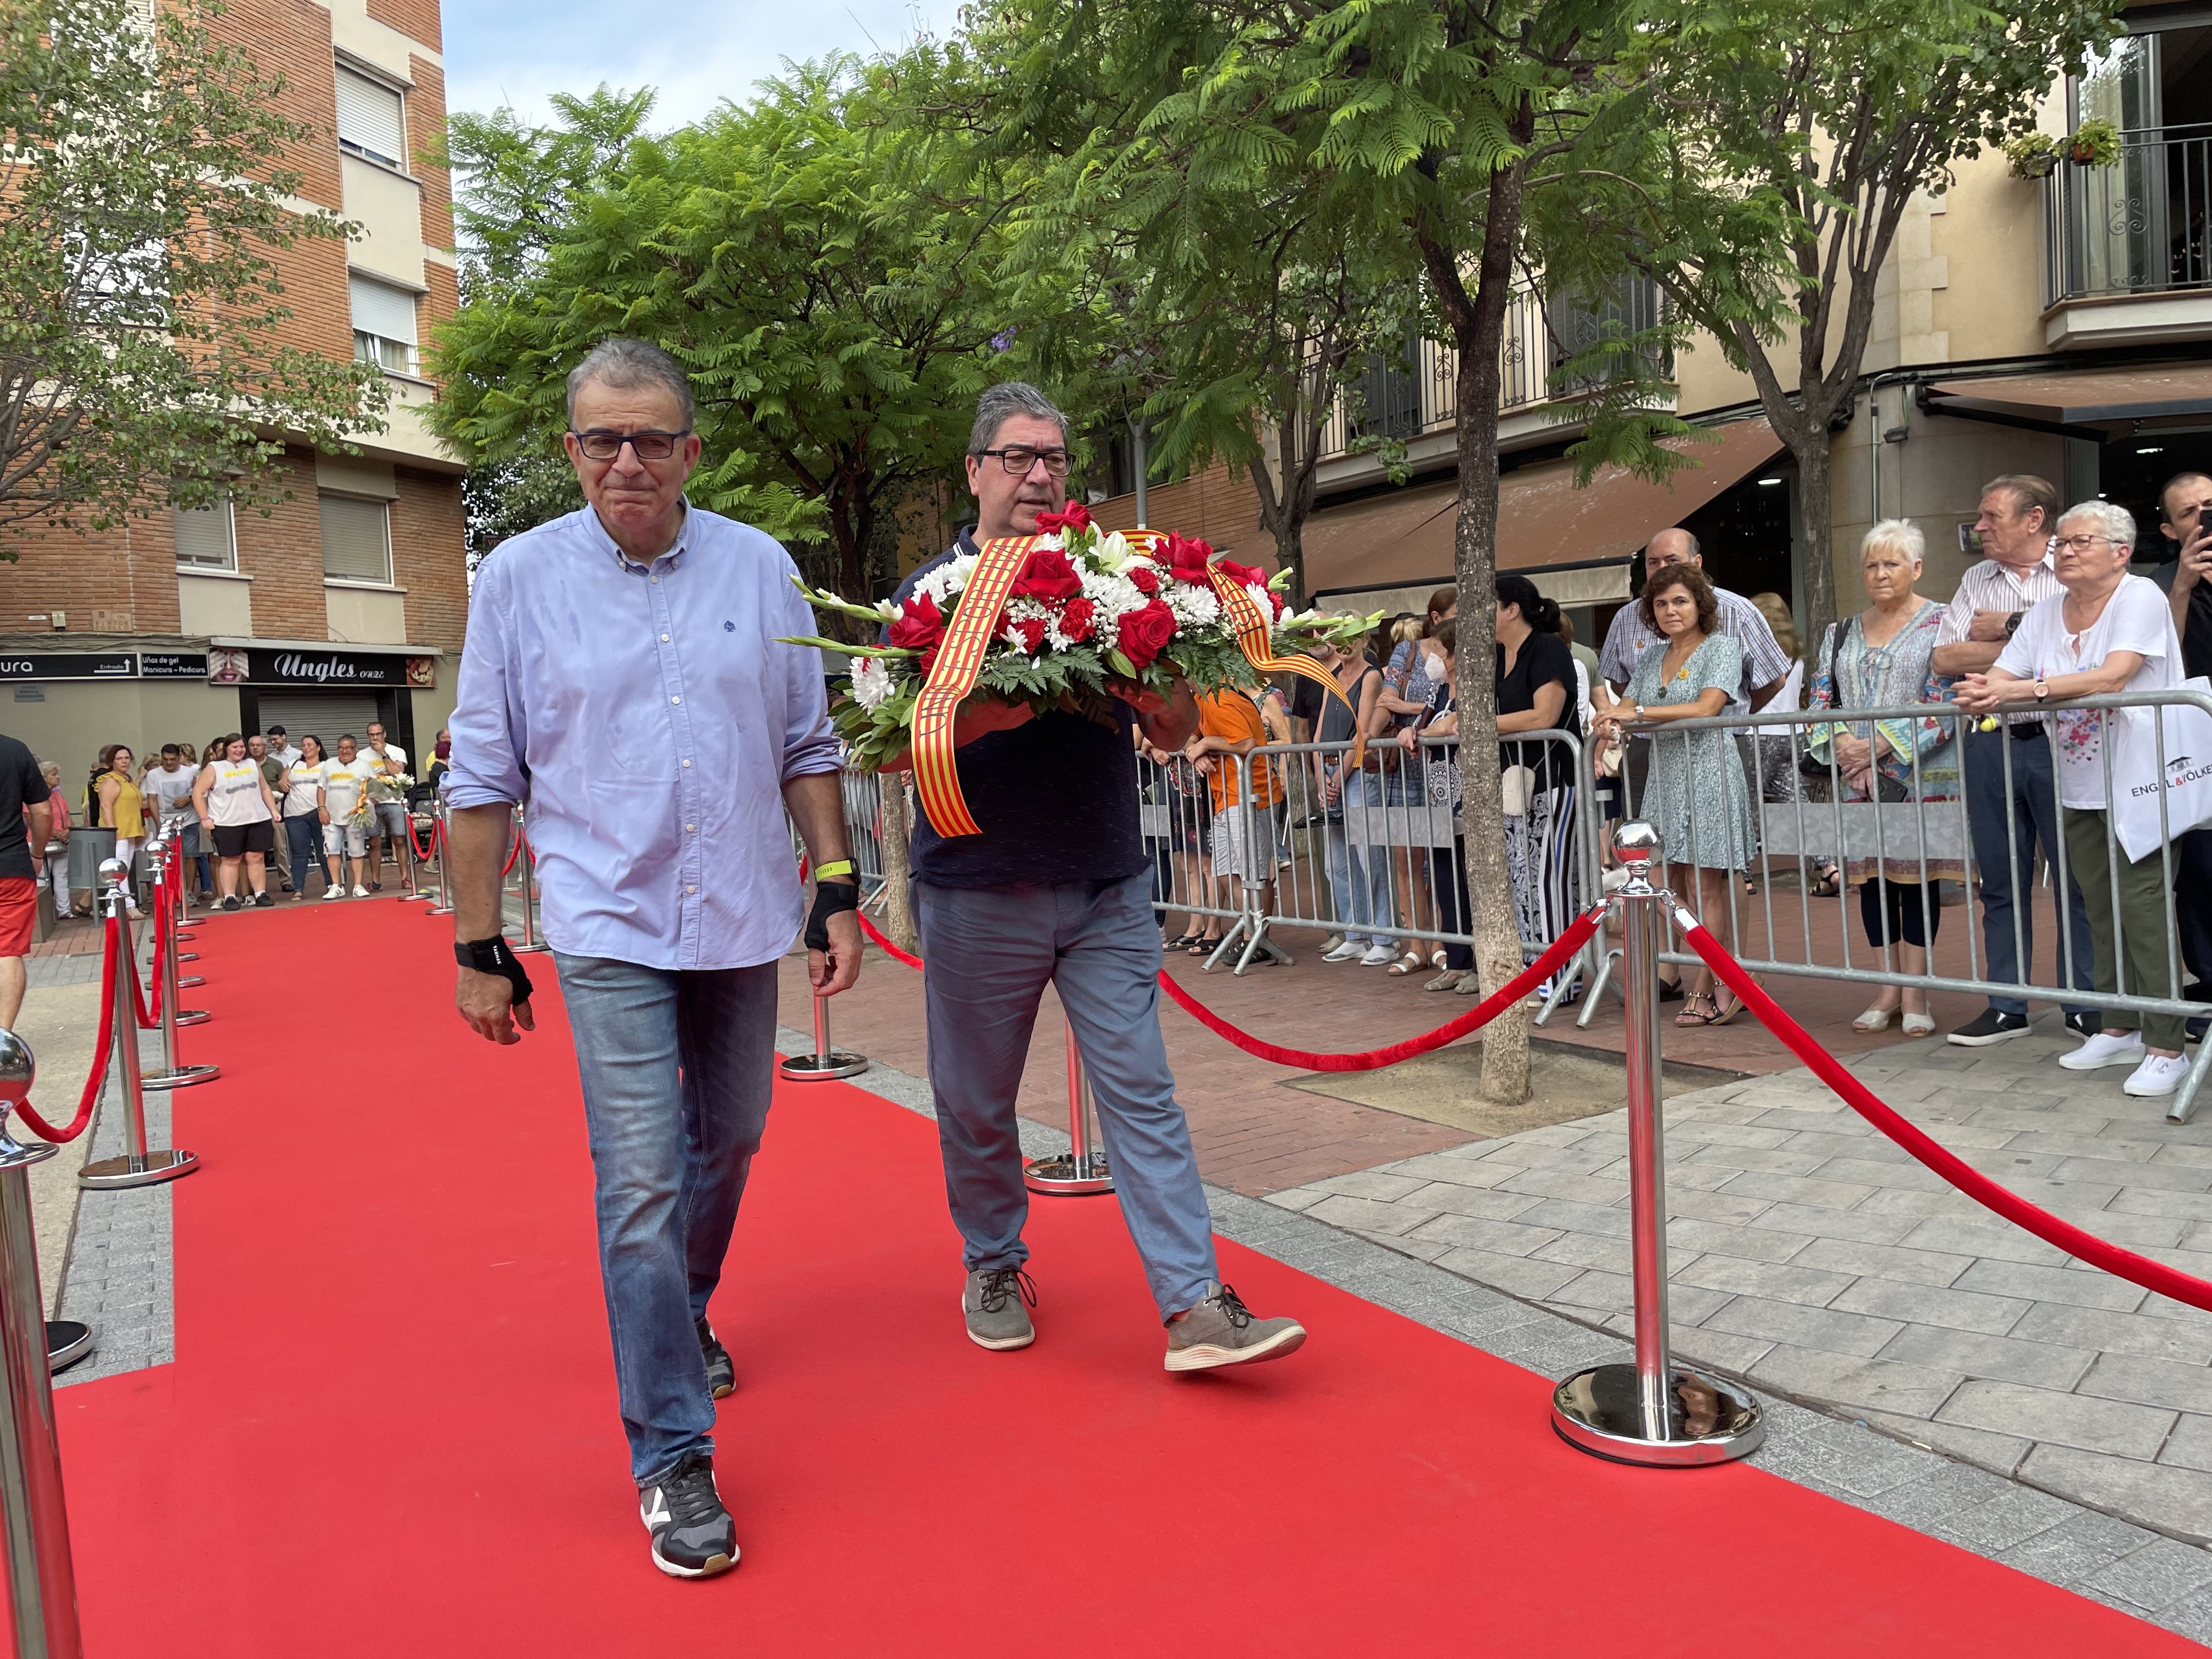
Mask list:
MULTIPOLYGON (((2051 878, 2059 869, 2059 799, 2051 787, 2051 739, 2015 739, 2008 728, 1966 732, 1966 830, 1973 836, 1973 867, 1982 887, 1982 973, 2000 984, 2022 980, 2026 962, 2035 960, 2035 843, 2044 843, 2051 878), (2004 759, 2011 752, 2013 772, 2006 785, 2004 759), (2008 801, 2006 801, 2008 796, 2008 801), (2006 843, 2006 803, 2011 803, 2011 845, 2006 843), (2028 900, 2015 902, 2013 865, 2028 885, 2028 900), (2013 925, 2020 938, 2013 938, 2013 925)), ((2073 863, 2066 865, 2066 933, 2059 933, 2059 987, 2088 991, 2095 980, 2095 940, 2088 911, 2081 907, 2081 883, 2073 863), (2073 973, 2066 971, 2066 945, 2073 945, 2073 973)), ((1989 1006, 2000 1013, 2026 1013, 2020 998, 1995 995, 1989 1006)), ((2079 1013, 2079 1002, 2064 1004, 2079 1013)))

